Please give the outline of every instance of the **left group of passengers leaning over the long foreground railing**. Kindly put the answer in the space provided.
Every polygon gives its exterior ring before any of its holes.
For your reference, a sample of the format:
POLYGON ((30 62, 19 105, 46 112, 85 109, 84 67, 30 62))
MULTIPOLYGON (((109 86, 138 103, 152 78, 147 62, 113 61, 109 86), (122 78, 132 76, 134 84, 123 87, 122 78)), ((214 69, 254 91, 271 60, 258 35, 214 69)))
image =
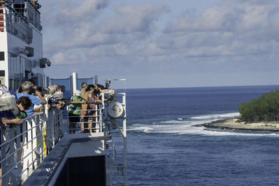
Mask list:
POLYGON ((0 96, 10 94, 15 97, 16 107, 8 110, 0 111, 0 130, 5 129, 8 125, 20 125, 22 124, 21 119, 31 116, 35 112, 44 111, 45 104, 51 109, 56 107, 62 109, 66 102, 56 100, 52 95, 56 92, 64 92, 65 86, 59 86, 53 84, 47 88, 41 88, 36 86, 33 79, 25 81, 17 91, 8 91, 5 85, 0 84, 0 96), (47 95, 50 95, 47 97, 47 95), (46 99, 47 98, 47 99, 46 99))

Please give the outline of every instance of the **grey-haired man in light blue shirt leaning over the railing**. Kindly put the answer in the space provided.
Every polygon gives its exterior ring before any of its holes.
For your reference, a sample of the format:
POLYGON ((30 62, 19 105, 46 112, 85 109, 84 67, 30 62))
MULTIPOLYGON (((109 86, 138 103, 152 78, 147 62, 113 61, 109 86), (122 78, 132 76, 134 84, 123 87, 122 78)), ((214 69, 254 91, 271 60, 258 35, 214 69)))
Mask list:
POLYGON ((27 110, 27 116, 31 116, 32 114, 34 114, 34 111, 40 111, 40 109, 35 109, 34 110, 34 105, 40 105, 40 104, 46 104, 47 101, 43 98, 43 96, 40 94, 39 91, 36 91, 36 95, 31 95, 31 92, 33 90, 33 86, 31 84, 31 82, 24 82, 22 84, 22 93, 17 93, 17 98, 20 98, 22 96, 26 96, 28 97, 32 104, 31 107, 27 110))

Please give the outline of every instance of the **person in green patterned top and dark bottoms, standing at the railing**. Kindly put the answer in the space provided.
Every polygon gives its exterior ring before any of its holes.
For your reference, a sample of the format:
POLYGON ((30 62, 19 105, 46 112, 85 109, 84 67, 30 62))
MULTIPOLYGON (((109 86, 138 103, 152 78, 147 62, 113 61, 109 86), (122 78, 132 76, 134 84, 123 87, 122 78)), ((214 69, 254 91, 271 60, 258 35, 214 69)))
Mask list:
POLYGON ((71 104, 68 106, 69 133, 75 134, 77 123, 80 122, 80 110, 82 109, 82 104, 86 104, 86 100, 81 98, 80 91, 76 90, 75 95, 70 98, 70 102, 71 104))

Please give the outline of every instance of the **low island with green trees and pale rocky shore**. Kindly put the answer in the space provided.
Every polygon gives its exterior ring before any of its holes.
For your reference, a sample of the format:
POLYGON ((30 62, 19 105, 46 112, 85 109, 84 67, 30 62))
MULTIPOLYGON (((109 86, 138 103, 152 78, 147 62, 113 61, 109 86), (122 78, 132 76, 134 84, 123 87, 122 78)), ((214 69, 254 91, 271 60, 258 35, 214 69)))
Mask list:
POLYGON ((229 130, 279 131, 279 91, 264 93, 239 105, 239 118, 204 123, 203 127, 229 130))

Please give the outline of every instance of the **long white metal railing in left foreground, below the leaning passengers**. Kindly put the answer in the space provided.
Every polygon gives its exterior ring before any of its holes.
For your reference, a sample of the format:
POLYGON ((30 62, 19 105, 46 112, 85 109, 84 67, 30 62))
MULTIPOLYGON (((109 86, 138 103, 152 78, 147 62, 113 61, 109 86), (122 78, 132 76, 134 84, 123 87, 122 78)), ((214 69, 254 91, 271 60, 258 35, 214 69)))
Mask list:
POLYGON ((61 138, 62 111, 33 114, 1 131, 2 185, 21 185, 61 138))

